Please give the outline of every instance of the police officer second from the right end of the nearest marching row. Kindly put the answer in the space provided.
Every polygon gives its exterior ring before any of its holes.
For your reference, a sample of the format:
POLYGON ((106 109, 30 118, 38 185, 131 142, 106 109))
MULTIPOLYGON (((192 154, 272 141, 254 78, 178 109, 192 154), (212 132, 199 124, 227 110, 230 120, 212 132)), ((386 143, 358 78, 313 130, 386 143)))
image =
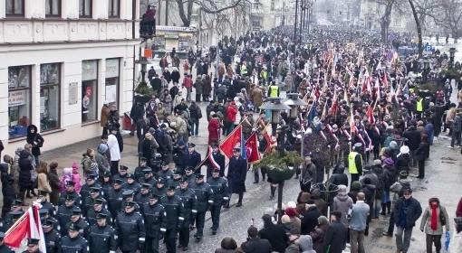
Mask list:
POLYGON ((197 174, 196 183, 191 187, 191 190, 193 190, 197 196, 197 233, 194 235, 197 241, 202 239, 204 233, 204 223, 206 221, 206 212, 208 211, 208 207, 214 203, 212 188, 208 183, 204 182, 204 177, 204 174, 197 174))

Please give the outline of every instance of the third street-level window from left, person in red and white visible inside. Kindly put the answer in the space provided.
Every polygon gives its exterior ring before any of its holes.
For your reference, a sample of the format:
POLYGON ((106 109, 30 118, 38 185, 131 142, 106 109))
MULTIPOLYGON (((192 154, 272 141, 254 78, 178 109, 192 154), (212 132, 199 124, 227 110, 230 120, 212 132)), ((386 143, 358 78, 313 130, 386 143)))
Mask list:
POLYGON ((82 123, 97 120, 98 61, 82 61, 82 123))

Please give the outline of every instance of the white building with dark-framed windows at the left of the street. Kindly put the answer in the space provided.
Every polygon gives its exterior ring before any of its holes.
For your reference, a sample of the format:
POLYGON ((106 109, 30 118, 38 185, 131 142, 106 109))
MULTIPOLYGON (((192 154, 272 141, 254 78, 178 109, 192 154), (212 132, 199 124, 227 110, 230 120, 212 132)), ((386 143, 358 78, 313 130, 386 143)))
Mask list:
POLYGON ((140 0, 0 0, 0 139, 43 150, 101 136, 101 106, 132 101, 140 0))

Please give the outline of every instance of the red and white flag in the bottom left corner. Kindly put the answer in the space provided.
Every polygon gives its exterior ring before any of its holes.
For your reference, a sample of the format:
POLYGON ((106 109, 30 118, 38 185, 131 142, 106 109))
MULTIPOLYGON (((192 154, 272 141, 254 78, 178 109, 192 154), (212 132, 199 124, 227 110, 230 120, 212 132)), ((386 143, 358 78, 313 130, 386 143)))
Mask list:
POLYGON ((5 232, 5 245, 20 250, 27 245, 27 239, 39 239, 39 250, 46 253, 39 210, 40 203, 34 202, 33 206, 14 222, 13 226, 5 232))

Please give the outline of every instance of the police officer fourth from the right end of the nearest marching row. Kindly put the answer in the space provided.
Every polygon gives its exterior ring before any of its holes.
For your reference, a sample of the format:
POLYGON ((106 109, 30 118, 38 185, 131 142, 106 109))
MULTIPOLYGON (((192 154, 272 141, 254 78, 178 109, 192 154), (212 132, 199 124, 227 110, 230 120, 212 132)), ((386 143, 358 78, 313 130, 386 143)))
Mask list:
POLYGON ((169 186, 166 196, 160 199, 166 212, 167 227, 165 232, 165 243, 168 253, 176 253, 176 240, 178 228, 181 228, 184 218, 184 207, 181 199, 175 195, 175 187, 169 186))

